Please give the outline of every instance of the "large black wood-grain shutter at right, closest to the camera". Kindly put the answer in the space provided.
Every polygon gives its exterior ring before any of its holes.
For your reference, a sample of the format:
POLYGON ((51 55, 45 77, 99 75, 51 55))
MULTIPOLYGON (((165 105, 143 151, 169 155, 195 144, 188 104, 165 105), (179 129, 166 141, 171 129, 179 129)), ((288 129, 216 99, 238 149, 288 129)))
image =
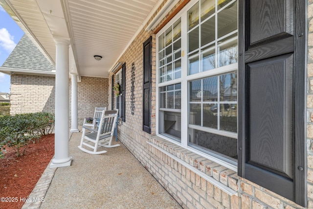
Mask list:
POLYGON ((305 0, 239 1, 238 175, 306 207, 305 0))

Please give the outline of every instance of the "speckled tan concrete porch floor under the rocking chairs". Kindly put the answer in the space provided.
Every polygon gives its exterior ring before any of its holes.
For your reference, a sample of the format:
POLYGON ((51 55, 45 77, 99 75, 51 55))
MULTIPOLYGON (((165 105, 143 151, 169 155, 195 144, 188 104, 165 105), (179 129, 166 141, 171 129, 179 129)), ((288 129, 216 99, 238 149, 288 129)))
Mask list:
POLYGON ((36 201, 23 208, 181 208, 120 141, 114 141, 121 144, 118 147, 104 148, 107 153, 91 155, 77 147, 81 134, 73 133, 69 140, 71 166, 51 169, 48 165, 29 196, 36 201), (37 201, 42 197, 43 202, 37 201))

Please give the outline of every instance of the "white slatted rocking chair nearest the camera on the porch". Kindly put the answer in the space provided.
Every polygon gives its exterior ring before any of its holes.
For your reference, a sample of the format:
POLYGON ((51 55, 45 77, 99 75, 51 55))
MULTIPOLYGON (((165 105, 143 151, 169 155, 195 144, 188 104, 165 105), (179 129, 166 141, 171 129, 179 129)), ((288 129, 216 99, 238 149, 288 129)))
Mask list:
POLYGON ((103 147, 117 147, 120 144, 112 145, 112 138, 114 134, 114 128, 118 117, 118 110, 101 111, 101 119, 98 123, 98 128, 93 129, 88 126, 83 126, 83 133, 80 145, 78 148, 89 154, 102 154, 106 153, 106 150, 97 151, 100 146, 103 147), (86 149, 83 145, 91 148, 86 149))

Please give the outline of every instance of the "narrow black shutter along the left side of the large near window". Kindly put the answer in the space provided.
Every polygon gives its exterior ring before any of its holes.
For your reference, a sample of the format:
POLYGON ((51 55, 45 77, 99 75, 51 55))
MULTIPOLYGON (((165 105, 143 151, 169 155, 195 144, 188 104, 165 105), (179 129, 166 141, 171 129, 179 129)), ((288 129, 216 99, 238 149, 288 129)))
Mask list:
POLYGON ((143 44, 143 127, 142 130, 151 134, 151 50, 152 36, 143 44))

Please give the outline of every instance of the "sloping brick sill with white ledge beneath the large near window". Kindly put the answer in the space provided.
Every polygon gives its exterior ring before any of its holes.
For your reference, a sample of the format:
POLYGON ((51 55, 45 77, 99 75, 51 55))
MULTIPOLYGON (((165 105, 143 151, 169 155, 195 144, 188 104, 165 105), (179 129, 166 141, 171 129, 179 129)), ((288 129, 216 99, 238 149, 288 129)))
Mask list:
POLYGON ((157 136, 149 139, 147 143, 201 176, 212 185, 220 188, 225 193, 231 196, 238 195, 238 180, 240 177, 237 176, 235 171, 157 136))

